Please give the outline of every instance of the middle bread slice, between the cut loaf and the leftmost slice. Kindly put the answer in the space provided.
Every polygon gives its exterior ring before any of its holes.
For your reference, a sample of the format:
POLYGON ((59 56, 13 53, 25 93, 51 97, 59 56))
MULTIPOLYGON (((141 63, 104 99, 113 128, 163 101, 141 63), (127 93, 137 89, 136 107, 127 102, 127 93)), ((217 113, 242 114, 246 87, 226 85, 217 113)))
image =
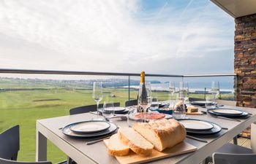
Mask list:
POLYGON ((120 128, 118 134, 121 141, 132 149, 133 152, 142 156, 151 155, 154 146, 134 129, 120 128))

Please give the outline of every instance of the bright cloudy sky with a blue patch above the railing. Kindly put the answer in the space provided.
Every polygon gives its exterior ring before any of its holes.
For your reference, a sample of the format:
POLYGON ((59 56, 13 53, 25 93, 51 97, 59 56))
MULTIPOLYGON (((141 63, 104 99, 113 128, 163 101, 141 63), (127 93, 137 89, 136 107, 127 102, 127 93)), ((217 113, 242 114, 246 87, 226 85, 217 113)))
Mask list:
POLYGON ((233 73, 234 20, 209 0, 0 0, 0 68, 233 73))

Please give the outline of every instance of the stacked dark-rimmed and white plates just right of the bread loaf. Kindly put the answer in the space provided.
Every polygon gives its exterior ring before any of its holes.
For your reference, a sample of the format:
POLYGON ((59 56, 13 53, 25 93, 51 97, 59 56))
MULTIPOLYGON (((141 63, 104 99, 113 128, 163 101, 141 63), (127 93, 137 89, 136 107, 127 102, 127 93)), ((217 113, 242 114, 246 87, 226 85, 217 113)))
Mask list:
POLYGON ((189 135, 213 135, 219 133, 222 127, 214 122, 209 122, 205 120, 195 120, 195 119, 182 119, 178 120, 187 130, 189 135))

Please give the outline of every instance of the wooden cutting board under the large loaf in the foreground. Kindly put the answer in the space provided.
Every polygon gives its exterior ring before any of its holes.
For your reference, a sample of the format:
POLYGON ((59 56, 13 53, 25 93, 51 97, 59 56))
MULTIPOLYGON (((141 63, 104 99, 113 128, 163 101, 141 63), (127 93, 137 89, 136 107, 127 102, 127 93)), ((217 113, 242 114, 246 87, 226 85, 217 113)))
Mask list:
MULTIPOLYGON (((108 140, 104 140, 104 144, 106 147, 108 147, 108 140)), ((180 144, 177 144, 175 147, 165 149, 162 152, 158 152, 157 150, 153 150, 152 155, 149 157, 143 157, 140 155, 137 155, 135 152, 132 152, 130 149, 129 155, 122 156, 122 157, 116 157, 116 160, 118 160, 118 163, 120 164, 138 164, 138 163, 147 163, 153 160, 160 160, 166 157, 173 157, 175 155, 182 155, 188 152, 194 152, 197 150, 197 147, 194 147, 191 144, 188 144, 187 142, 181 142, 180 144)))

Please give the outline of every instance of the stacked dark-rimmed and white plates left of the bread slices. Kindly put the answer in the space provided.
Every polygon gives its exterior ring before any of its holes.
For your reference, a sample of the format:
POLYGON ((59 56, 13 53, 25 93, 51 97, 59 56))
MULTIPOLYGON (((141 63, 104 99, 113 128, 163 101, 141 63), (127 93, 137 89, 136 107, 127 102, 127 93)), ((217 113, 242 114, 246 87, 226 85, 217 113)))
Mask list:
POLYGON ((62 133, 76 138, 92 138, 108 136, 116 130, 117 126, 112 122, 91 120, 69 124, 62 129, 62 133))

